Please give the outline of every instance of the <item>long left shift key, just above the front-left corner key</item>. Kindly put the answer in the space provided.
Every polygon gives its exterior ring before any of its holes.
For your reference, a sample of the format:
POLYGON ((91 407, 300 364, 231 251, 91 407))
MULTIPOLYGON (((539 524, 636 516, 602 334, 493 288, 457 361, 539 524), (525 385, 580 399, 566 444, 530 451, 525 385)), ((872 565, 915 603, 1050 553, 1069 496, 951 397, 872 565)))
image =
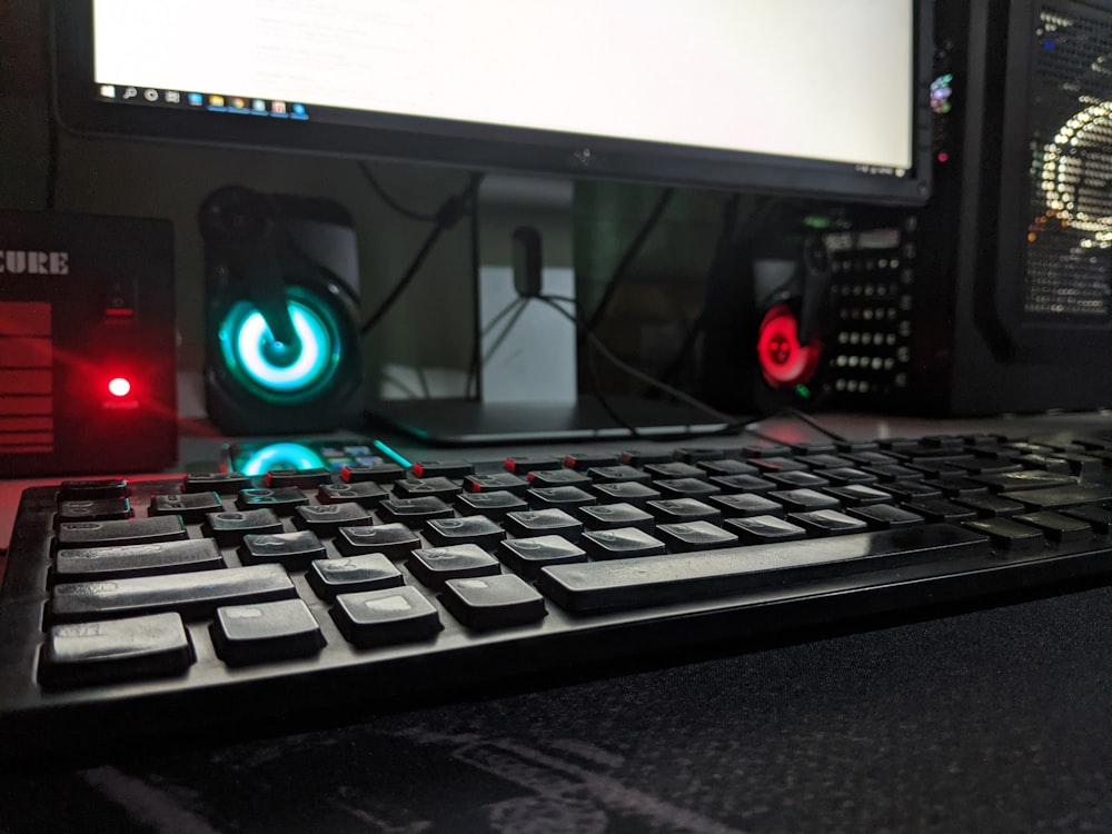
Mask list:
POLYGON ((252 565, 169 576, 56 585, 49 615, 53 623, 79 623, 176 610, 186 619, 215 615, 224 605, 267 603, 297 596, 281 565, 252 565))

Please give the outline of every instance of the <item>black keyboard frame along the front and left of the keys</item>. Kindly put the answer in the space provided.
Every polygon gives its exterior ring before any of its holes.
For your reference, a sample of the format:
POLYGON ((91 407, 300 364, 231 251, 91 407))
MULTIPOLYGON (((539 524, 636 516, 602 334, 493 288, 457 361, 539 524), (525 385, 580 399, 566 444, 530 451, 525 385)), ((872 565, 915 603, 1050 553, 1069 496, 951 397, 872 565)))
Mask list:
MULTIPOLYGON (((132 481, 137 515, 145 514, 149 495, 179 484, 132 481)), ((200 634, 209 620, 187 622, 197 659, 182 676, 43 691, 36 671, 44 642, 56 493, 56 487, 24 492, 0 589, 0 759, 135 749, 135 744, 159 737, 207 734, 226 742, 260 731, 286 733, 348 721, 353 711, 358 716, 405 708, 430 695, 450 697, 476 685, 484 693, 497 693, 513 679, 558 685, 569 667, 597 667, 608 674, 608 663, 637 657, 652 662, 697 646, 745 652, 787 631, 866 623, 893 613, 900 618, 945 613, 953 603, 989 605, 1016 590, 1053 593, 1076 580, 1112 575, 1112 538, 1094 535, 1050 553, 992 553, 957 564, 932 560, 646 609, 573 615, 546 597, 548 615, 542 622, 479 633, 459 624, 434 590, 395 560, 406 584, 421 588, 437 606, 444 631, 429 642, 357 648, 340 635, 327 610, 330 604, 317 598, 304 573, 290 572, 327 641, 319 656, 231 668, 216 657, 208 635, 200 634)), ((226 506, 232 500, 226 496, 226 506)), ((190 537, 199 536, 199 524, 187 527, 190 537)), ((238 564, 234 548, 221 552, 230 552, 229 565, 238 564)), ((505 565, 503 572, 513 573, 505 565)))

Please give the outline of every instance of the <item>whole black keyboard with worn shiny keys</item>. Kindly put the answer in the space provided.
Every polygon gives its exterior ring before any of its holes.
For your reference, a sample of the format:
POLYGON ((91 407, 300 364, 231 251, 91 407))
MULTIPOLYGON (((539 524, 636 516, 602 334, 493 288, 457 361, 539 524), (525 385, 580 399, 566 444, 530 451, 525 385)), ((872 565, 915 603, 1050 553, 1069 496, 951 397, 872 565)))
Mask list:
POLYGON ((983 435, 36 487, 0 594, 0 749, 329 723, 989 604, 1112 574, 1110 507, 1112 443, 983 435))

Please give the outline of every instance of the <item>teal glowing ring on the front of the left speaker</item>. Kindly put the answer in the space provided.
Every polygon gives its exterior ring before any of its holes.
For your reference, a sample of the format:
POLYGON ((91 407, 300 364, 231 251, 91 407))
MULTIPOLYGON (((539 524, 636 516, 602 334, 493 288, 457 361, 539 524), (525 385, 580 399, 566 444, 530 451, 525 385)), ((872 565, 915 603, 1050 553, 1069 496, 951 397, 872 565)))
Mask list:
POLYGON ((225 367, 245 388, 272 403, 295 404, 332 383, 342 348, 336 314, 316 296, 289 287, 287 305, 299 345, 276 341, 262 314, 246 300, 228 310, 218 338, 225 367))

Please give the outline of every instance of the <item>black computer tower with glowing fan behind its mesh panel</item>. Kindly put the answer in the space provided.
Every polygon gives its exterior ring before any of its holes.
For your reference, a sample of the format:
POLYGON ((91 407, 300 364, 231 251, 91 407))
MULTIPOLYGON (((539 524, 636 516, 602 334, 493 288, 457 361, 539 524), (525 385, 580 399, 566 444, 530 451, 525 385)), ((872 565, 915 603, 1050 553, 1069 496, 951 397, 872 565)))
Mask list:
POLYGON ((1112 405, 1112 4, 940 0, 923 411, 1112 405))

